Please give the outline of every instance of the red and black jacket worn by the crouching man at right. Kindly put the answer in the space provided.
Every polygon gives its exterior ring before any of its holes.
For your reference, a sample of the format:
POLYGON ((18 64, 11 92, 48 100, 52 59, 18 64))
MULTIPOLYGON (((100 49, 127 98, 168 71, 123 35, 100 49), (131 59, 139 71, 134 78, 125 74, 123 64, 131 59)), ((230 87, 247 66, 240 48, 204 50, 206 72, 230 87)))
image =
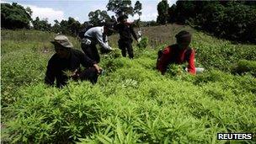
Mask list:
POLYGON ((195 74, 195 51, 194 49, 179 50, 178 45, 170 45, 163 50, 162 56, 157 60, 157 70, 166 72, 169 64, 182 64, 188 62, 188 71, 195 74))

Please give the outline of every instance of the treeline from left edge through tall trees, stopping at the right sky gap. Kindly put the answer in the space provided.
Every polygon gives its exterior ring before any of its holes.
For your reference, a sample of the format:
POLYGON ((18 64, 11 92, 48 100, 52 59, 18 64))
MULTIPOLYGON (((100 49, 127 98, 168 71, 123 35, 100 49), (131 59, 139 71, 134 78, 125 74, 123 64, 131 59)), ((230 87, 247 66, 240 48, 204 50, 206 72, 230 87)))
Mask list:
MULTIPOLYGON (((141 3, 136 1, 134 7, 131 6, 131 0, 109 0, 106 6, 108 11, 116 14, 126 13, 141 15, 141 3)), ((36 29, 61 33, 65 35, 77 36, 80 31, 92 26, 103 25, 104 22, 114 22, 115 16, 109 16, 107 11, 95 10, 88 13, 89 21, 81 24, 76 19, 69 17, 67 20, 54 20, 54 24, 49 24, 48 19, 32 19, 32 10, 24 8, 18 3, 1 3, 1 28, 2 29, 36 29)))

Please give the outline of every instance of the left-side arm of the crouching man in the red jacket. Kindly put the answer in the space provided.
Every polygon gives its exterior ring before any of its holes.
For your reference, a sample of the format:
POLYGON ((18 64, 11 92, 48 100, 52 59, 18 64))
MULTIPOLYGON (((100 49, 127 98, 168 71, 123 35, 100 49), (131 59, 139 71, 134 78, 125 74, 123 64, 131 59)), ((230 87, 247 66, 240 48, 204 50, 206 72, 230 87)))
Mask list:
POLYGON ((161 72, 162 74, 164 74, 167 70, 168 61, 169 61, 169 58, 170 58, 170 52, 171 52, 171 50, 169 49, 169 47, 165 48, 163 50, 162 56, 157 61, 157 70, 159 72, 161 72))

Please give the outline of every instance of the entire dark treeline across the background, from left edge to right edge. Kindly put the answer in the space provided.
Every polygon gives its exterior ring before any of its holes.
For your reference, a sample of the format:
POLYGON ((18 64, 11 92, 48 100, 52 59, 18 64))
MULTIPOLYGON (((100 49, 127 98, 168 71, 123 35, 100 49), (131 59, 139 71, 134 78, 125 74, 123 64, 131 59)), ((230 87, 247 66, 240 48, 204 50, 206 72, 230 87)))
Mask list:
MULTIPOLYGON (((140 16, 142 7, 139 1, 132 7, 131 0, 109 0, 106 8, 116 15, 126 13, 140 16)), ((141 22, 137 19, 136 26, 189 24, 220 38, 256 43, 256 1, 178 0, 170 7, 167 0, 162 0, 157 4, 157 12, 157 22, 141 22)), ((47 19, 31 19, 32 13, 30 8, 24 8, 17 3, 1 3, 1 28, 38 29, 77 36, 84 28, 116 20, 115 16, 110 17, 107 11, 99 9, 88 13, 89 21, 83 24, 71 17, 49 24, 47 19)))

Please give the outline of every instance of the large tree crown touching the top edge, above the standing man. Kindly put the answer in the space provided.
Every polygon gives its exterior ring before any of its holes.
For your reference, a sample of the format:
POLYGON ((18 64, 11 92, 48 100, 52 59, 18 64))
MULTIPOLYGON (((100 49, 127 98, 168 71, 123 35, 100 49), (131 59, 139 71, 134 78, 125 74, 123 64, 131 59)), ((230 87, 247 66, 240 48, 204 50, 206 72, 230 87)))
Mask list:
POLYGON ((117 15, 120 14, 131 14, 133 13, 133 8, 131 7, 131 0, 109 0, 107 4, 108 11, 112 11, 117 15))

